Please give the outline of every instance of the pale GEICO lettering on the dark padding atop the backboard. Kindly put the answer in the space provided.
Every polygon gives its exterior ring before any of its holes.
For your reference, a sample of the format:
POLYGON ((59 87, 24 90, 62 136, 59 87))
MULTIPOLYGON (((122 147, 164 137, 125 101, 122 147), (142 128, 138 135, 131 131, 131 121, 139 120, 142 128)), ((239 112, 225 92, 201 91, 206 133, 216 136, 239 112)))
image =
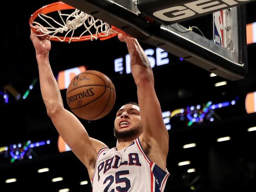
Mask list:
POLYGON ((240 2, 251 0, 197 0, 190 3, 182 4, 182 6, 169 7, 159 11, 155 11, 153 15, 163 21, 177 21, 192 17, 194 15, 214 12, 225 7, 236 6, 240 2), (168 14, 167 14, 168 13, 168 14))

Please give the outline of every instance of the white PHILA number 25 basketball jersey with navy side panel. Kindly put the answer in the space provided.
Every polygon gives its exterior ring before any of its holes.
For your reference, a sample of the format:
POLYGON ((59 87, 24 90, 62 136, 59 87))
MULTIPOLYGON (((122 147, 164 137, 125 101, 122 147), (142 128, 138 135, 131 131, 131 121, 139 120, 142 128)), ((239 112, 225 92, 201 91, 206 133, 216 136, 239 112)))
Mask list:
POLYGON ((137 138, 128 147, 99 151, 92 177, 93 192, 163 192, 169 176, 146 156, 137 138))

